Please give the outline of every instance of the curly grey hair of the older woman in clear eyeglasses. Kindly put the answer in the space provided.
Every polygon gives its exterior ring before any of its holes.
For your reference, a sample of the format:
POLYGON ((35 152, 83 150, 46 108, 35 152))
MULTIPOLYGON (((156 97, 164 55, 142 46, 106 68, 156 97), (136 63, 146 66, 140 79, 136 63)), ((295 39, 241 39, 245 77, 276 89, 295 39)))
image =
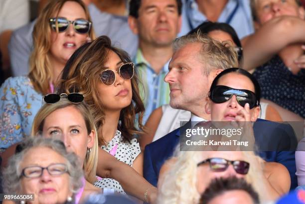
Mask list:
POLYGON ((2 175, 4 192, 22 193, 20 185, 20 163, 23 161, 25 154, 36 147, 50 148, 65 158, 70 179, 70 191, 74 194, 77 193, 83 186, 82 179, 84 178, 77 156, 74 153, 68 153, 65 145, 60 140, 43 137, 27 138, 22 143, 22 148, 24 149, 9 159, 8 166, 3 170, 2 175))

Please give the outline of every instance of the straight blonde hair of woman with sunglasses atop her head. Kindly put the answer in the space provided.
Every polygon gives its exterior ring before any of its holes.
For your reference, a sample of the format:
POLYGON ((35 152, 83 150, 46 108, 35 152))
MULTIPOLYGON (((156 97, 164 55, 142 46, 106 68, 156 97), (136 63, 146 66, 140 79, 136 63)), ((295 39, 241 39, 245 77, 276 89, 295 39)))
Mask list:
POLYGON ((58 109, 66 108, 69 106, 73 106, 74 108, 76 108, 83 116, 88 135, 90 134, 90 132, 92 130, 95 133, 94 145, 91 148, 91 151, 87 152, 86 159, 84 161, 84 167, 83 167, 85 179, 90 183, 94 183, 96 181, 96 168, 97 168, 97 161, 98 161, 98 139, 97 139, 97 131, 96 131, 93 116, 90 113, 90 110, 87 108, 87 106, 84 102, 74 104, 74 103, 71 103, 69 100, 62 98, 62 99, 60 99, 60 101, 58 101, 54 104, 44 104, 39 109, 38 113, 36 114, 36 116, 34 118, 31 135, 33 135, 33 136, 42 135, 45 118, 48 117, 54 111, 56 111, 58 109))

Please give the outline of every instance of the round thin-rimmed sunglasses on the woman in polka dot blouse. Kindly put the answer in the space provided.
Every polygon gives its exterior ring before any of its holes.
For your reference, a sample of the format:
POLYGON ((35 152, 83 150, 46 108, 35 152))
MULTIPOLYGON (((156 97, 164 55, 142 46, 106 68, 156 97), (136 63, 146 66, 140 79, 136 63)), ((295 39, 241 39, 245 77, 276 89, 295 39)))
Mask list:
POLYGON ((116 81, 116 72, 119 72, 120 76, 125 79, 131 79, 135 73, 135 64, 128 62, 122 64, 118 71, 113 71, 111 69, 106 69, 100 73, 100 79, 106 86, 111 86, 116 81))

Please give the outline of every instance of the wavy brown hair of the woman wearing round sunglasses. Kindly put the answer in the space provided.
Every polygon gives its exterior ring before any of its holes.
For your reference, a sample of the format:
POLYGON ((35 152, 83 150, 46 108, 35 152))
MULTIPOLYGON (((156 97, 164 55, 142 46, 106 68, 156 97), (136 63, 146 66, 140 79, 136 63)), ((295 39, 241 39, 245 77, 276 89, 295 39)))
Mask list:
MULTIPOLYGON (((123 63, 132 62, 127 52, 113 47, 110 38, 103 35, 82 45, 73 53, 63 69, 62 79, 57 86, 58 93, 78 92, 84 95, 84 100, 93 114, 97 129, 103 126, 105 113, 96 87, 98 83, 101 83, 99 74, 103 71, 103 64, 107 62, 110 50, 114 51, 123 63)), ((138 83, 139 79, 135 70, 135 75, 131 79, 132 102, 121 110, 121 123, 118 124, 118 130, 128 141, 134 137, 134 134, 141 134, 143 130, 142 118, 145 108, 139 94, 138 83), (140 131, 135 127, 136 114, 139 114, 140 131)), ((102 135, 98 135, 98 140, 99 145, 105 144, 102 135)))

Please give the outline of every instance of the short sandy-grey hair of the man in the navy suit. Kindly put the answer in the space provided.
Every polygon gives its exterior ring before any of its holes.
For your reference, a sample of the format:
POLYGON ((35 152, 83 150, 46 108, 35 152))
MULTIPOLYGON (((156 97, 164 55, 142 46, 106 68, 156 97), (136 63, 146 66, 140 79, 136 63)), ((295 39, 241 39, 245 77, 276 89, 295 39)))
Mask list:
POLYGON ((238 67, 237 51, 228 41, 219 42, 200 30, 176 38, 173 42, 174 51, 191 43, 202 44, 200 50, 201 61, 207 65, 206 69, 202 70, 204 74, 208 75, 214 69, 225 70, 231 67, 238 67))

